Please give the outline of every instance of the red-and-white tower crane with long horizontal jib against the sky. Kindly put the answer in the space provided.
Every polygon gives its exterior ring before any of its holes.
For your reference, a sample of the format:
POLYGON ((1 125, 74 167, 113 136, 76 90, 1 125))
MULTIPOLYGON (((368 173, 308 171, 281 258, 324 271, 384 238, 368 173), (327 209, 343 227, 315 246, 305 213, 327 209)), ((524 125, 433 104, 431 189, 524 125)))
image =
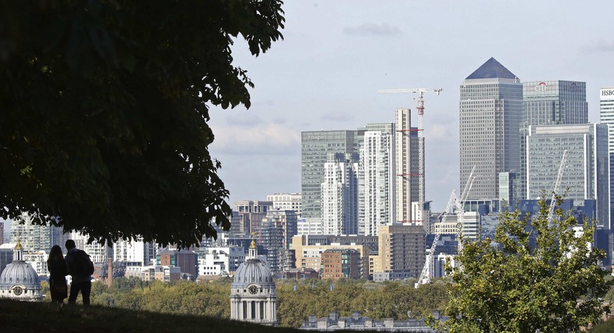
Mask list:
MULTIPOLYGON (((423 116, 424 116, 424 98, 423 93, 434 92, 439 95, 442 89, 381 89, 378 93, 418 93, 418 174, 397 174, 397 176, 418 176, 420 177, 418 185, 418 221, 424 219, 424 138, 423 138, 423 116)), ((411 129, 398 129, 399 132, 411 131, 411 129)))

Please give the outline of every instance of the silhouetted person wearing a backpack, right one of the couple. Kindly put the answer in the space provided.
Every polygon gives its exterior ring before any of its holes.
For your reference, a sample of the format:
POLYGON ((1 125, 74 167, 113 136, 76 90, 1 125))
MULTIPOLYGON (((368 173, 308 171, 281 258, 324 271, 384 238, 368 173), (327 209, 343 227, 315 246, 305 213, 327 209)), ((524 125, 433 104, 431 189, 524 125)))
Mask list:
POLYGON ((68 303, 74 304, 77 301, 77 295, 81 292, 83 304, 88 306, 94 263, 89 259, 89 254, 82 249, 77 249, 74 240, 67 240, 65 247, 68 251, 65 257, 66 266, 68 266, 68 274, 72 276, 68 303))

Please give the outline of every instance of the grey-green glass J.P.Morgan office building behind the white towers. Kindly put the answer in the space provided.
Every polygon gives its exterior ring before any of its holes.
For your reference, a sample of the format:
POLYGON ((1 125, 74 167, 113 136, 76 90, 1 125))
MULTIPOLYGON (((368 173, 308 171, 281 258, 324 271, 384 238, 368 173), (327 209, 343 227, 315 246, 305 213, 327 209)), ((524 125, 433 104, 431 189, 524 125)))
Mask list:
POLYGON ((364 129, 354 131, 305 131, 301 133, 301 216, 322 218, 321 184, 328 153, 359 152, 364 129))

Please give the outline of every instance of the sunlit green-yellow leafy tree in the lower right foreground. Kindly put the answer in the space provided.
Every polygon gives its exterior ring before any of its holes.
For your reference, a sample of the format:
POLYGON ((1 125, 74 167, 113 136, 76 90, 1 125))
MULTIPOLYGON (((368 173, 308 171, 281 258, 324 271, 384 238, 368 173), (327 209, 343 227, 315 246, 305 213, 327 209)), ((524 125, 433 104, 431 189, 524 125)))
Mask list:
MULTIPOLYGON (((557 197, 558 202, 561 198, 557 197)), ((449 332, 580 332, 609 313, 602 297, 612 284, 599 266, 601 249, 589 247, 594 223, 582 233, 573 216, 558 209, 552 223, 540 202, 532 223, 535 248, 529 246, 527 218, 518 211, 501 214, 494 242, 469 242, 458 255, 460 268, 448 268, 451 299, 449 332), (565 214, 566 215, 566 214, 565 214)))

